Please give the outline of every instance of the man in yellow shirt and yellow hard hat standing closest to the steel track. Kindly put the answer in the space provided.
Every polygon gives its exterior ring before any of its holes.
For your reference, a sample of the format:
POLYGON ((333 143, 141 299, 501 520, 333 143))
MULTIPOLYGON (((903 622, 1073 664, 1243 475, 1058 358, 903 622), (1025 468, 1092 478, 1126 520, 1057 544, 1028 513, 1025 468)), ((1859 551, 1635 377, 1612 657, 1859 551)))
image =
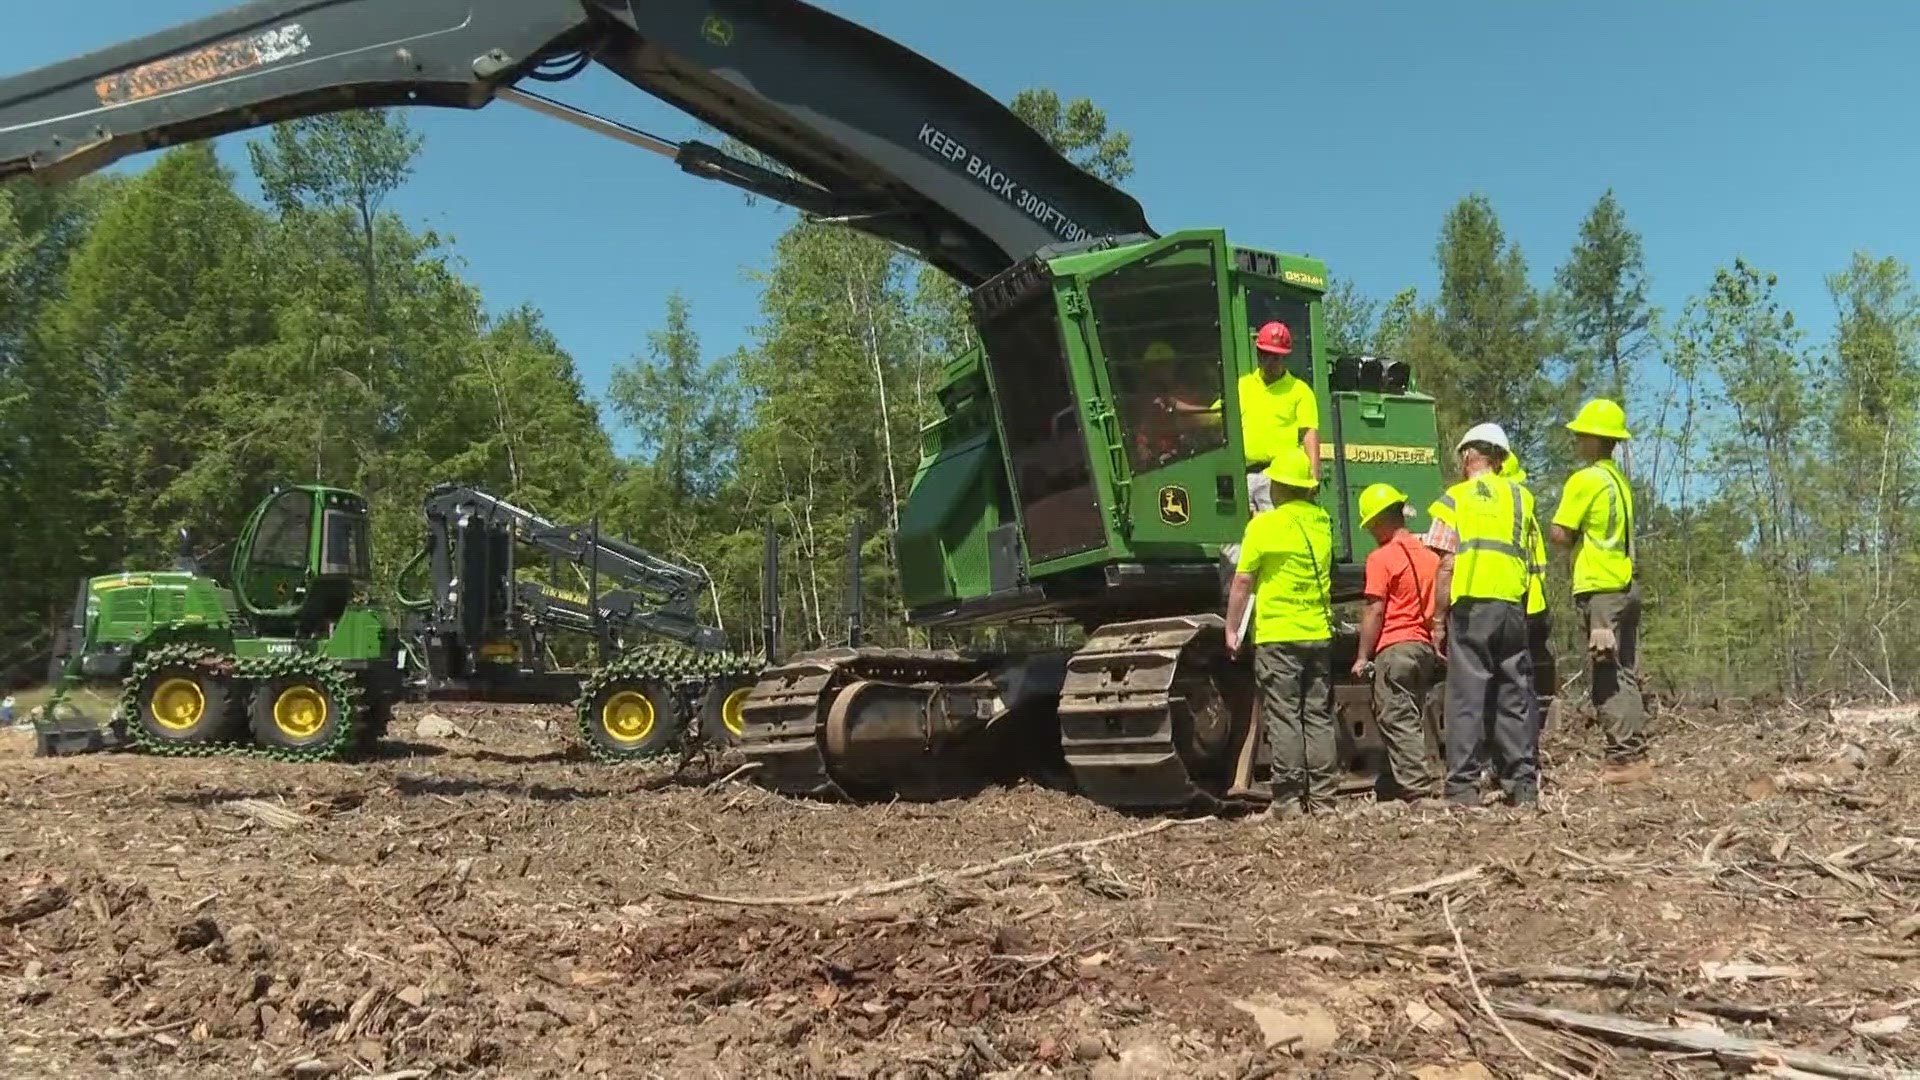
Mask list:
POLYGON ((1246 644, 1254 605, 1254 680, 1273 751, 1269 815, 1332 809, 1332 521, 1313 503, 1308 455, 1283 448, 1267 471, 1273 509, 1254 515, 1227 596, 1227 650, 1246 644))

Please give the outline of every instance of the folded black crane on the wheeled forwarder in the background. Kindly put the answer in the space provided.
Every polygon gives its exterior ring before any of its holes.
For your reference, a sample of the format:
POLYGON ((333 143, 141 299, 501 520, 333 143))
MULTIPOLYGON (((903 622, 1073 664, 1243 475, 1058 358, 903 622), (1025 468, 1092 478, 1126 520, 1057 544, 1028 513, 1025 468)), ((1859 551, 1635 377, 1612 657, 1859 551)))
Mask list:
POLYGON ((582 634, 639 630, 703 650, 726 648, 699 621, 707 577, 595 528, 555 525, 488 492, 440 484, 426 496, 426 557, 432 573, 430 628, 467 648, 511 625, 582 634), (515 578, 513 546, 586 571, 586 588, 515 578))

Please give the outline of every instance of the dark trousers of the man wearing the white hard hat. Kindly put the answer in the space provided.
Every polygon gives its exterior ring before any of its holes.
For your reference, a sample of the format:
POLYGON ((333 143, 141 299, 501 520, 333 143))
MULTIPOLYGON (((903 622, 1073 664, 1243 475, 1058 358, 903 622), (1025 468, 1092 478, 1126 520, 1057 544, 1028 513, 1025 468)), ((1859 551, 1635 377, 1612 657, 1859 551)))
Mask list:
POLYGON ((1448 615, 1446 798, 1480 801, 1480 773, 1511 803, 1540 798, 1540 728, 1526 613, 1505 600, 1463 600, 1448 615), (1492 753, 1488 753, 1492 751, 1492 753))

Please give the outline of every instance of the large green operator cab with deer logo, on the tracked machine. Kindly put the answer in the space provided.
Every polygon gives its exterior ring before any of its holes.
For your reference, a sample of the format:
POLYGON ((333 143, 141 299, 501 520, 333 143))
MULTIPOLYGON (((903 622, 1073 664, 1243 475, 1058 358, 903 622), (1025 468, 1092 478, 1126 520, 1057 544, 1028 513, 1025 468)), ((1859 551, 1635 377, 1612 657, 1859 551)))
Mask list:
POLYGON ((1246 525, 1238 379, 1283 319, 1313 380, 1319 263, 1246 284, 1219 231, 1031 261, 975 292, 1027 559, 1202 561, 1246 525), (1021 273, 1025 269, 1025 273, 1021 273), (1050 286, 1050 288, 1048 288, 1050 286))

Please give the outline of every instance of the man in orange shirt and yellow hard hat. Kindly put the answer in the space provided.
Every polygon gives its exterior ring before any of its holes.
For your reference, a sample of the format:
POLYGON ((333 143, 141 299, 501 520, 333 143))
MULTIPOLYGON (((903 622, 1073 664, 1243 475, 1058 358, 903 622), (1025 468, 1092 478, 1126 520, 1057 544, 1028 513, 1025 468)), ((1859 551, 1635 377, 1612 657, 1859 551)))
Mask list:
POLYGON ((1440 555, 1407 532, 1407 496, 1392 484, 1359 494, 1359 523, 1373 532, 1367 555, 1367 609, 1359 619, 1354 676, 1373 676, 1373 719, 1386 742, 1384 792, 1402 799, 1436 798, 1427 767, 1421 705, 1434 684, 1440 655, 1430 619, 1440 555))

